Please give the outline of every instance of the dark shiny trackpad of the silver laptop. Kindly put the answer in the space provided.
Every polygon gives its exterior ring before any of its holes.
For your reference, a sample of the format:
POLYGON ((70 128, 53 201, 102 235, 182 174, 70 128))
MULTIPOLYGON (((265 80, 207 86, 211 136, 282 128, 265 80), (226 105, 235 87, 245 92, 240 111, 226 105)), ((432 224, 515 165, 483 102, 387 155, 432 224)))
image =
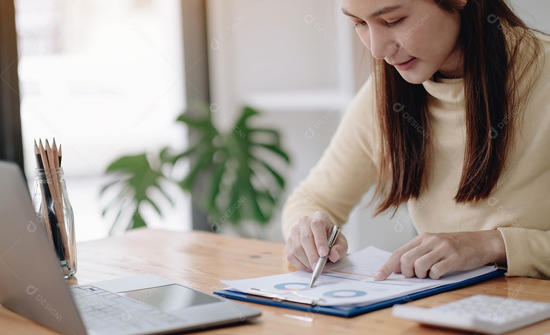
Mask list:
POLYGON ((172 314, 189 307, 220 302, 218 298, 178 284, 117 292, 117 294, 172 314))

